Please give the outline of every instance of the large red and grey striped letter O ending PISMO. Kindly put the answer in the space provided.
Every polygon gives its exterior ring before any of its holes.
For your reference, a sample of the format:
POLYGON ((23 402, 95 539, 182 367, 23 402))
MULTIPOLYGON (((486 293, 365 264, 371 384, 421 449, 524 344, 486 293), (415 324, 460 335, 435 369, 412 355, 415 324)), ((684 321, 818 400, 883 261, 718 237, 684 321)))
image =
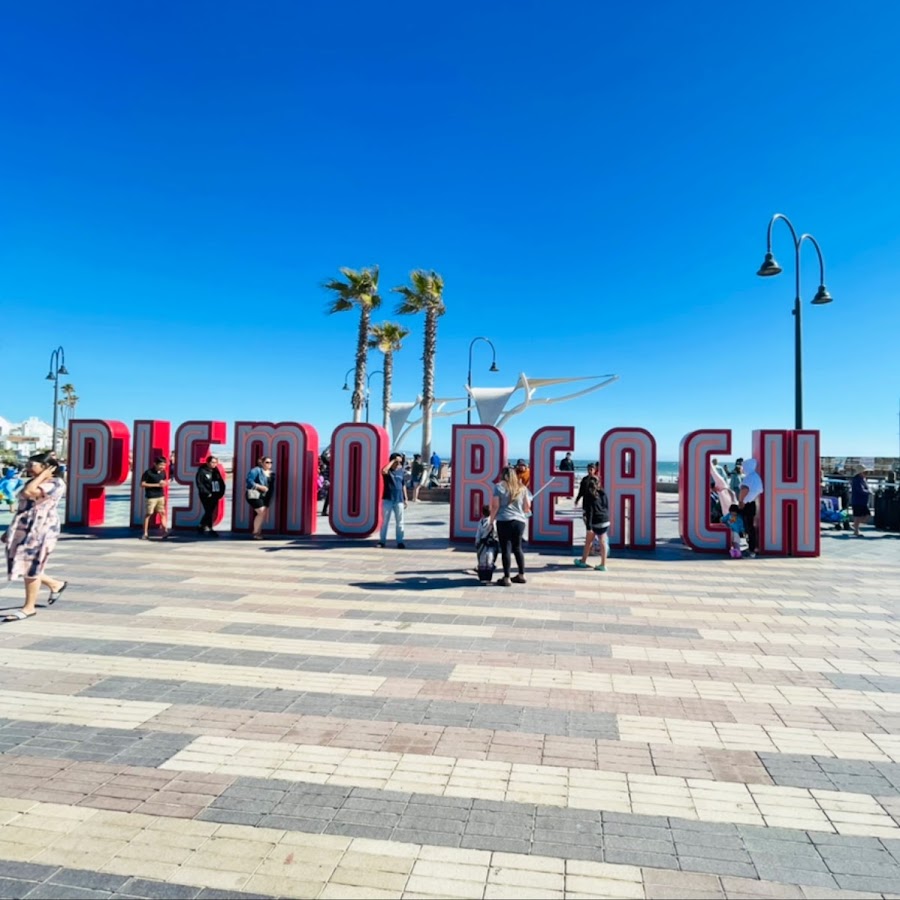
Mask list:
POLYGON ((381 470, 390 442, 378 425, 345 422, 331 436, 331 510, 342 537, 367 537, 381 527, 381 470))

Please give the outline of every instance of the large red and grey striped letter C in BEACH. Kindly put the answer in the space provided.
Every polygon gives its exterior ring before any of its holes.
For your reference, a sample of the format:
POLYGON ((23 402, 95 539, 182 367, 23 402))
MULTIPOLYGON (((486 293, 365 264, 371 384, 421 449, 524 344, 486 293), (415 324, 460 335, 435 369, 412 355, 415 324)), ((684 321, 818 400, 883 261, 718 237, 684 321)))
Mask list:
MULTIPOLYGON (((681 540, 698 553, 725 553, 728 529, 711 522, 710 461, 731 453, 731 431, 692 431, 681 439, 678 453, 678 524, 681 540)), ((723 514, 728 510, 722 510, 723 514)))

